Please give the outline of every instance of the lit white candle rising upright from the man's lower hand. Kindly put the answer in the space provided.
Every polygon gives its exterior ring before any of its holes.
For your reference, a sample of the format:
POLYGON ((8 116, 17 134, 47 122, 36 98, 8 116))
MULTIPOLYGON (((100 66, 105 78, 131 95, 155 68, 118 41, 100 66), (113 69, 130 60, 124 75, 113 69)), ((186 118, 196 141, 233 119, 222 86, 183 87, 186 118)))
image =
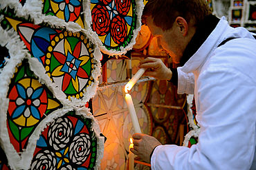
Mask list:
POLYGON ((140 124, 138 123, 138 117, 136 115, 136 111, 135 111, 135 108, 134 108, 134 103, 132 102, 131 95, 130 94, 125 94, 125 100, 126 100, 126 103, 127 103, 129 113, 131 115, 131 122, 132 122, 132 125, 134 126, 134 131, 135 131, 135 133, 140 133, 141 134, 140 124))

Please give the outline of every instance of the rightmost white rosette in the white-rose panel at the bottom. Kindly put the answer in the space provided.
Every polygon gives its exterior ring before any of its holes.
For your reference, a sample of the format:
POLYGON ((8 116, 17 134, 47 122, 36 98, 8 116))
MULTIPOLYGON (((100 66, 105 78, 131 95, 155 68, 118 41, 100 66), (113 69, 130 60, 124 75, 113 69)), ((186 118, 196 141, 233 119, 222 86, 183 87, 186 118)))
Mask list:
POLYGON ((87 134, 75 136, 69 147, 70 159, 75 164, 82 164, 88 157, 91 147, 91 138, 87 134))

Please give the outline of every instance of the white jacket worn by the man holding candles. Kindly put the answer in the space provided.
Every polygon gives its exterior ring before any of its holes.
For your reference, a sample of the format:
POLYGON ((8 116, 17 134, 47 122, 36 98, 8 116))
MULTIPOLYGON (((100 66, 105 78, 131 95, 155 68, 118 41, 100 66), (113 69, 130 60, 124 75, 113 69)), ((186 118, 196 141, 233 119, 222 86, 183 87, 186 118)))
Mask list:
POLYGON ((250 32, 221 19, 178 76, 178 92, 195 97, 199 142, 156 147, 152 169, 250 169, 256 146, 256 41, 250 32), (217 47, 230 37, 240 38, 217 47))

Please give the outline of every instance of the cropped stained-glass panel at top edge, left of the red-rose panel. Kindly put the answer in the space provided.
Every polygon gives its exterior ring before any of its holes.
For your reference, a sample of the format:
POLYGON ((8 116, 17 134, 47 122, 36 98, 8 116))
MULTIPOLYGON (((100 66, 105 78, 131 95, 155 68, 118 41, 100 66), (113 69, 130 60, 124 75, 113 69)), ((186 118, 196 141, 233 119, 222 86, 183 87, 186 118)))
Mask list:
POLYGON ((84 28, 82 0, 43 0, 42 13, 64 21, 73 21, 84 28))

